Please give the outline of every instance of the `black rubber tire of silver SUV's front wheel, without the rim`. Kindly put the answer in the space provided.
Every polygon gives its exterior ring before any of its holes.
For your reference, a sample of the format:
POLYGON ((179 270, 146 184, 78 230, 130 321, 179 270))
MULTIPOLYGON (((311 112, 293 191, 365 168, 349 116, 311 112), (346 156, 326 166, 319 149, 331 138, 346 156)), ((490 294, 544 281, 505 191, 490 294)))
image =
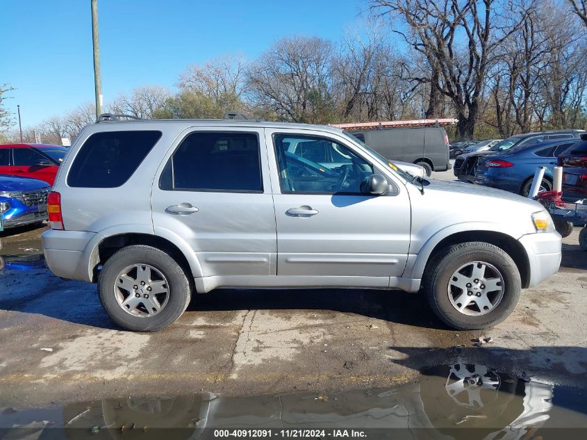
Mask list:
POLYGON ((500 247, 479 241, 451 245, 437 252, 424 270, 422 286, 430 307, 438 317, 450 327, 461 330, 484 329, 501 323, 518 304, 522 290, 520 272, 511 256, 500 247), (456 310, 447 291, 453 272, 472 261, 490 263, 504 279, 502 300, 495 309, 477 316, 456 310))

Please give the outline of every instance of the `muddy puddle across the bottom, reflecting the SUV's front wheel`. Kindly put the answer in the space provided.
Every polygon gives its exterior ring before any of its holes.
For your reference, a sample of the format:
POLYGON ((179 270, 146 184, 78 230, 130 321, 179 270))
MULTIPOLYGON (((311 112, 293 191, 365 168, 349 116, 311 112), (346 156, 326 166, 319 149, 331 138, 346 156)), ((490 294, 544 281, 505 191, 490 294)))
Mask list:
POLYGON ((417 382, 389 389, 242 397, 199 393, 2 408, 0 438, 308 437, 291 434, 304 428, 318 438, 585 439, 586 397, 579 389, 454 364, 423 370, 417 382), (253 435, 234 429, 271 431, 253 435))

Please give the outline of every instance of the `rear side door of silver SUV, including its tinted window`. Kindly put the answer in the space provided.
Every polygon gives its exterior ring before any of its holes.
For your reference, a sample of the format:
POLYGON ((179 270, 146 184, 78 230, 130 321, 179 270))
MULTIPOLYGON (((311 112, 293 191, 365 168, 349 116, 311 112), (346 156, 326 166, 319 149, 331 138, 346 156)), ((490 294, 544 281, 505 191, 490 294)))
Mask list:
POLYGON ((276 226, 263 129, 199 127, 164 159, 153 224, 174 231, 202 275, 275 275, 276 226))

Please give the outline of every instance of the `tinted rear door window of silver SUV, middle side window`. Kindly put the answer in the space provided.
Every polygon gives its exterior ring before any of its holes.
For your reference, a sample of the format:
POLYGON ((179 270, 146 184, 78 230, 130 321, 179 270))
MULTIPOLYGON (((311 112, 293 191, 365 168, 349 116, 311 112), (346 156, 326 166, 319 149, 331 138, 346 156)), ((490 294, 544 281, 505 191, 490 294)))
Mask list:
POLYGON ((233 131, 191 133, 165 165, 159 188, 263 193, 257 135, 233 131))

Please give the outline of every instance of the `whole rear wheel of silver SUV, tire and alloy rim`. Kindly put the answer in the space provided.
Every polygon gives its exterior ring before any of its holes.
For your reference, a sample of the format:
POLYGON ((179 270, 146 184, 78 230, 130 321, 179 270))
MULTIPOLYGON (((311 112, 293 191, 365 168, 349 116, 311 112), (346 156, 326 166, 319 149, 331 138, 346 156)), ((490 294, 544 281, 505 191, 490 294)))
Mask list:
POLYGON ((156 332, 174 323, 190 302, 190 282, 156 247, 123 247, 106 261, 98 292, 110 318, 124 329, 156 332))

